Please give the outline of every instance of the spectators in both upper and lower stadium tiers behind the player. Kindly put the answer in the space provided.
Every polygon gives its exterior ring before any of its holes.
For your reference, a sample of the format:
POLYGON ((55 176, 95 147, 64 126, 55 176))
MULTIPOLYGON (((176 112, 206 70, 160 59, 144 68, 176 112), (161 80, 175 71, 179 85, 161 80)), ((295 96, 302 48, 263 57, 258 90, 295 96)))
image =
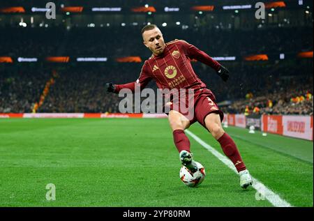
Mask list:
MULTIPOLYGON (((139 28, 79 29, 68 32, 50 29, 8 28, 1 33, 0 51, 6 56, 134 56, 147 59, 151 53, 142 45, 139 28), (128 40, 125 37, 128 36, 128 40), (13 47, 14 45, 14 47, 13 47)), ((313 59, 297 59, 301 51, 313 51, 313 33, 305 27, 256 29, 250 31, 207 29, 162 29, 165 40, 174 38, 208 52, 211 56, 237 56, 223 63, 230 70, 227 83, 214 70, 193 62, 195 73, 216 95, 224 112, 245 113, 258 109, 260 114, 313 114, 313 59), (244 40, 245 39, 245 40, 244 40), (287 40, 290 39, 290 40, 287 40), (248 54, 294 54, 293 58, 272 61, 242 61, 248 54), (246 98, 248 93, 253 94, 246 98), (304 96, 294 102, 292 98, 304 96), (292 99, 292 100, 291 100, 292 99), (272 106, 269 107, 269 100, 272 106), (256 107, 256 108, 255 108, 256 107)), ((55 65, 45 61, 13 65, 0 64, 0 112, 119 112, 117 95, 106 94, 105 82, 123 84, 137 79, 142 63, 75 63, 55 65), (45 89, 56 70, 54 84, 45 89)), ((156 89, 154 83, 149 84, 156 89)))

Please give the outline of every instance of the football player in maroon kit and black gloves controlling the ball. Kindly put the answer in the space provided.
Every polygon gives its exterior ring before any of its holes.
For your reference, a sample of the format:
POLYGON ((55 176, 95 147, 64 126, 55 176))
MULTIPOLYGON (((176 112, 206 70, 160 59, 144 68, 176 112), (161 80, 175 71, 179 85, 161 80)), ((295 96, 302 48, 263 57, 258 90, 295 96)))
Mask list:
POLYGON ((218 108, 214 94, 195 74, 190 60, 196 59, 214 68, 225 82, 229 78, 227 68, 184 40, 172 40, 165 43, 163 34, 155 24, 144 26, 142 38, 144 45, 153 54, 144 62, 140 77, 136 82, 128 84, 108 82, 105 84, 106 91, 119 93, 121 89, 130 89, 134 92, 135 85, 139 85, 140 89, 143 89, 151 79, 156 81, 159 89, 193 89, 195 113, 193 119, 188 119, 186 114, 173 108, 170 108, 170 112, 167 113, 173 131, 174 144, 179 151, 182 165, 185 165, 191 172, 195 172, 197 169, 192 153, 190 153, 190 141, 184 130, 198 121, 219 142, 225 155, 233 162, 239 172, 241 188, 248 188, 249 185, 252 185, 253 180, 236 144, 221 126, 223 112, 218 108))

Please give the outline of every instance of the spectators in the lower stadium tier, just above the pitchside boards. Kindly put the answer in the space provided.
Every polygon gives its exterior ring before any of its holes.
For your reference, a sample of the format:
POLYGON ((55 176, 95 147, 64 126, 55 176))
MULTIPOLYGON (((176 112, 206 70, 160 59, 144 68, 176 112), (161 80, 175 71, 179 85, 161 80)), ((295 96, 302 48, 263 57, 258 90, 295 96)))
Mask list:
MULTIPOLYGON (((313 94, 313 76, 306 72, 308 69, 289 66, 286 62, 276 70, 271 64, 246 64, 225 63, 232 73, 227 83, 211 68, 200 63, 193 63, 193 66, 200 79, 214 92, 217 102, 232 102, 232 105, 220 106, 224 112, 244 114, 248 106, 250 113, 257 107, 259 114, 313 114, 313 97, 308 96, 313 94), (298 72, 300 74, 296 76, 298 72)), ((141 66, 142 63, 61 66, 37 112, 119 112, 119 101, 123 98, 105 93, 104 84, 133 82, 141 66)), ((32 112, 53 70, 44 66, 2 67, 0 112, 32 112)), ((148 87, 156 89, 156 84, 151 82, 148 87)))

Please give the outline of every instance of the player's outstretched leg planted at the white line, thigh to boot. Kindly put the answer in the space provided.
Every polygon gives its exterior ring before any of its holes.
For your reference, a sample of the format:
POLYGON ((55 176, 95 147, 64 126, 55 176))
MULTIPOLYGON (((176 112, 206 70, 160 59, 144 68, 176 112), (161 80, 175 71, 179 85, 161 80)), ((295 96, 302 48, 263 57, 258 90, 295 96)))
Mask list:
POLYGON ((241 188, 247 188, 248 185, 252 185, 253 181, 251 175, 246 169, 246 165, 241 158, 237 145, 223 130, 219 114, 216 112, 208 114, 204 119, 204 124, 207 130, 211 132, 211 135, 219 142, 221 148, 223 148, 223 153, 233 162, 239 172, 241 188))

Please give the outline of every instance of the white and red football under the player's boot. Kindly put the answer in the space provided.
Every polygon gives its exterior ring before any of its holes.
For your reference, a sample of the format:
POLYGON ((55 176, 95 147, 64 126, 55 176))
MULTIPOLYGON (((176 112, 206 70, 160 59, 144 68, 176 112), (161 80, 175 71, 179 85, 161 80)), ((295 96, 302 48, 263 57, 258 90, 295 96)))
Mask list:
POLYGON ((197 165, 197 172, 192 173, 185 166, 182 166, 180 169, 180 178, 182 183, 190 188, 195 188, 200 185, 206 176, 205 168, 200 164, 200 162, 195 163, 197 165))

